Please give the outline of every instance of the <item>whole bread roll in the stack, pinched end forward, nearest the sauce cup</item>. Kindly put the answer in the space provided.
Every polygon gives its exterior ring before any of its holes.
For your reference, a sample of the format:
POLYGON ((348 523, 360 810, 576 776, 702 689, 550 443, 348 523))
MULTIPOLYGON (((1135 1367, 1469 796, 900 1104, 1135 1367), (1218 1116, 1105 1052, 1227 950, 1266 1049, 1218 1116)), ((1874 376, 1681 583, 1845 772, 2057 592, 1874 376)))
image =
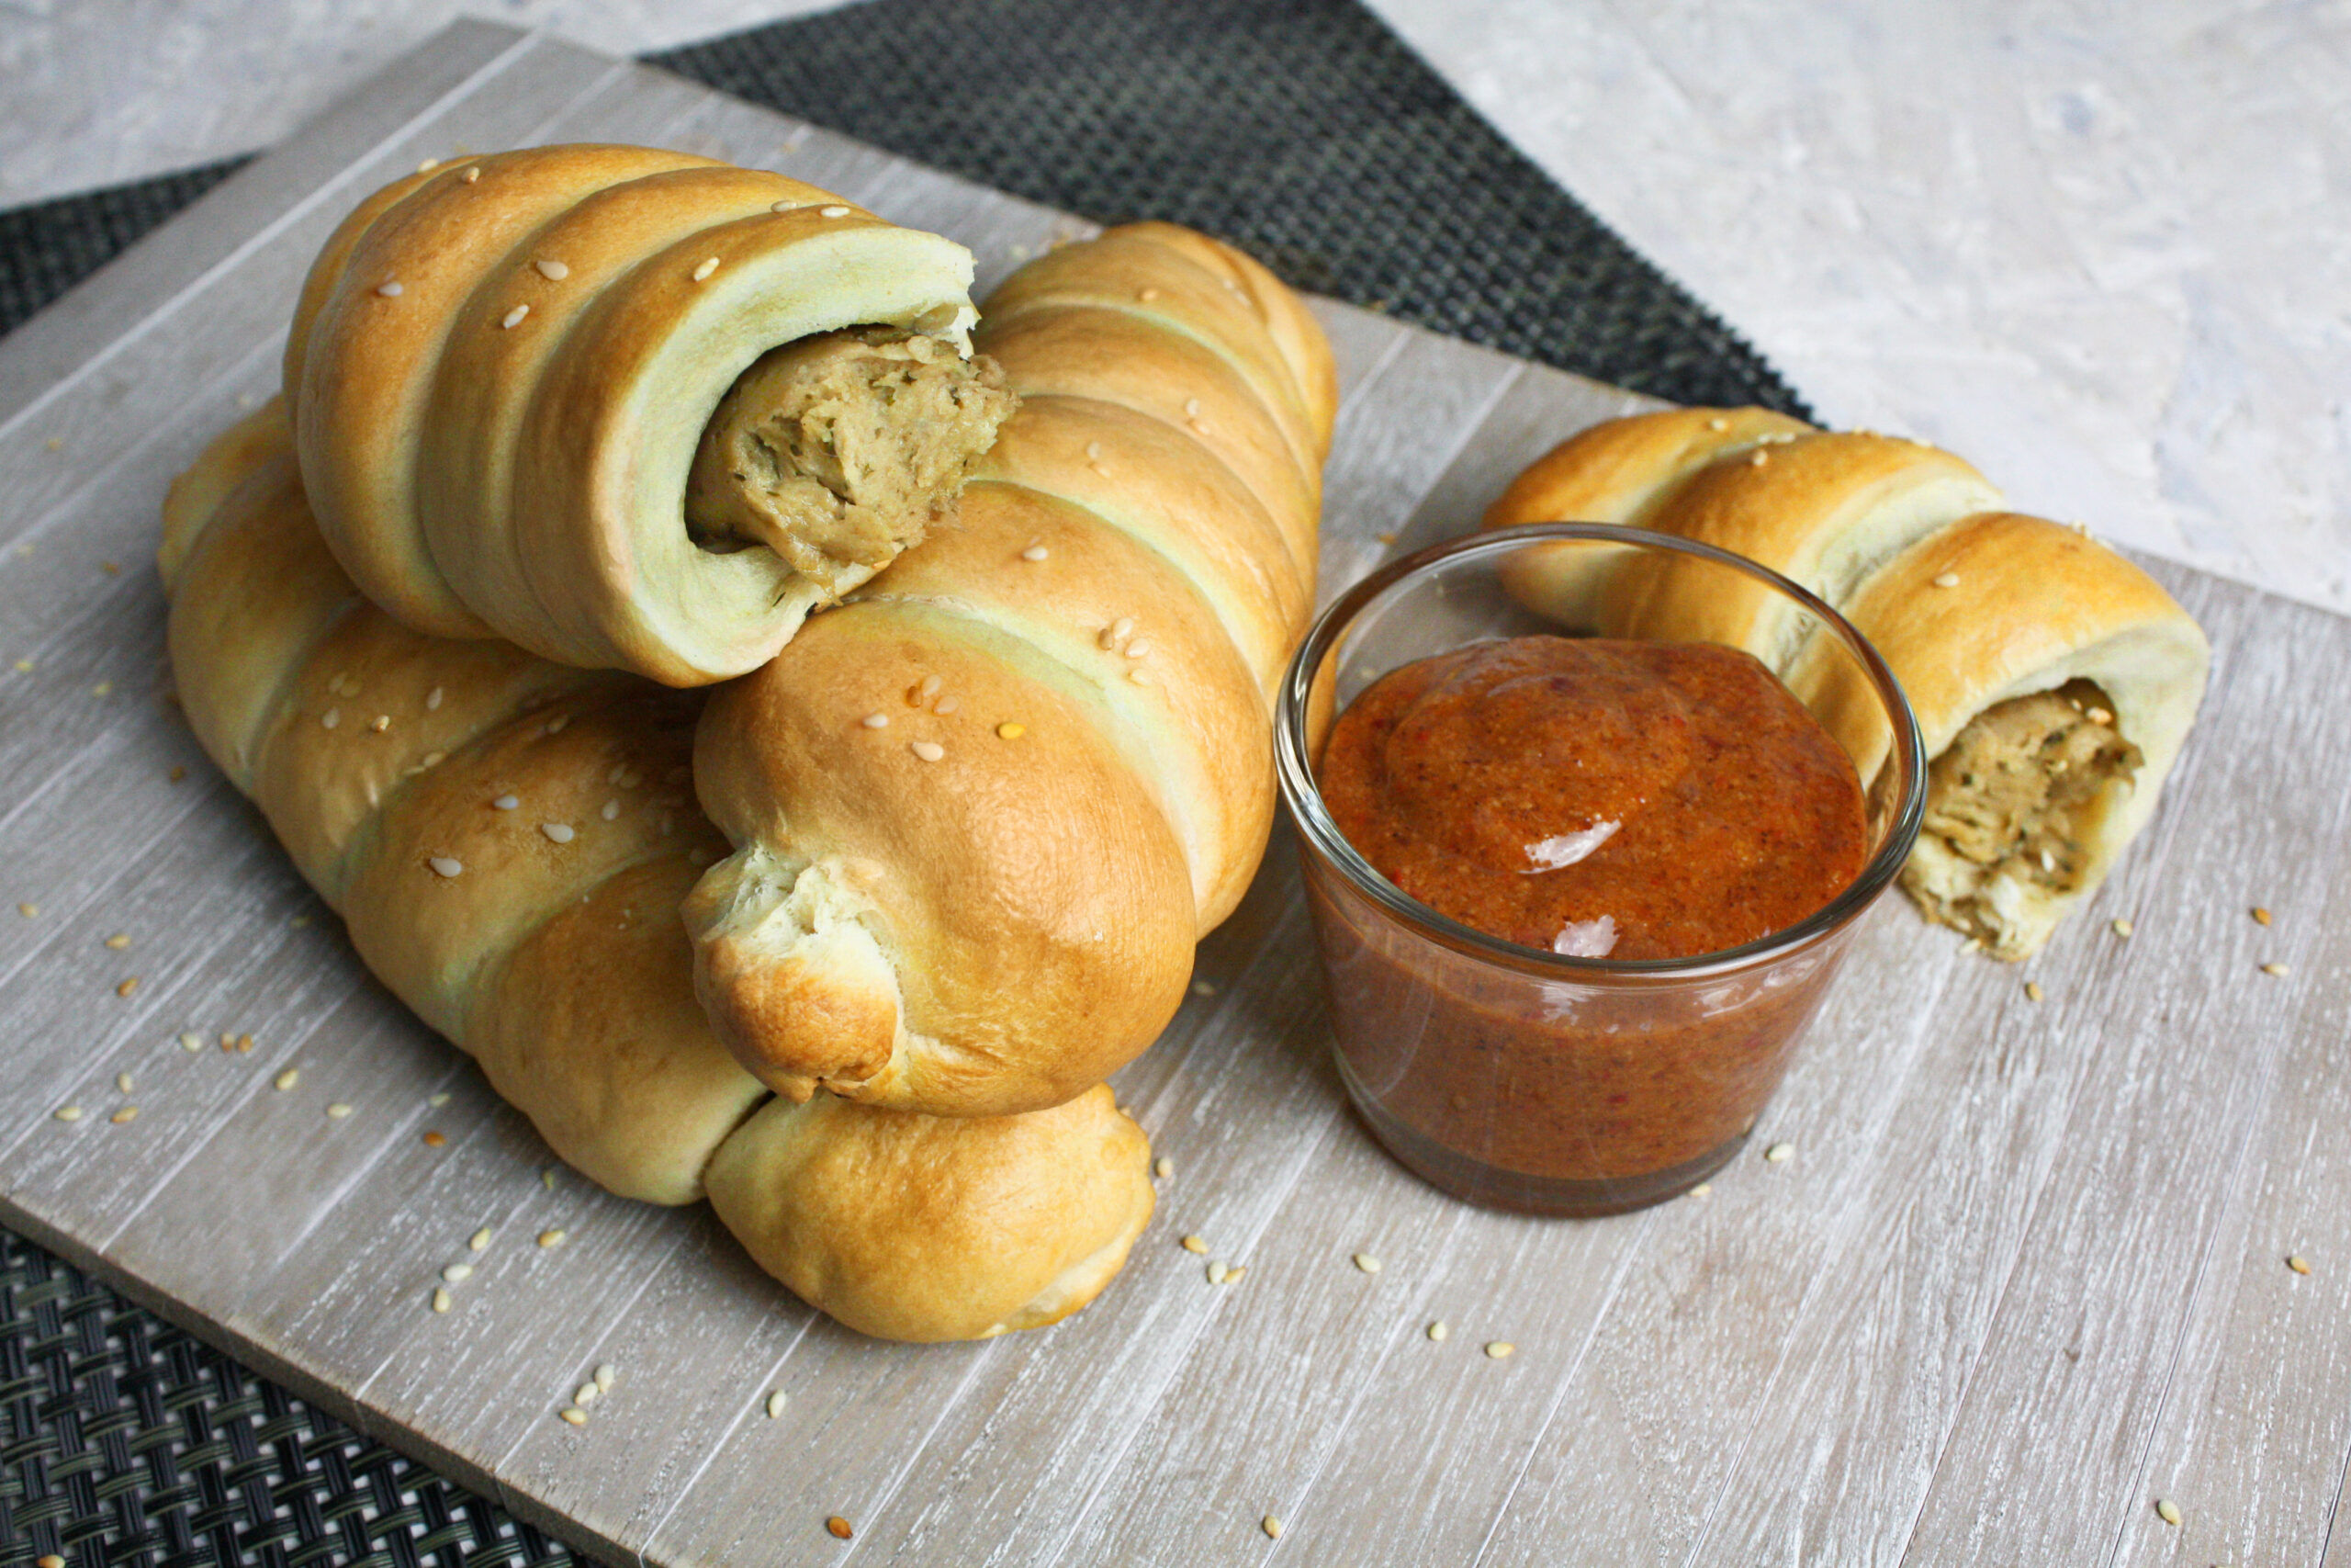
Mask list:
POLYGON ((1020 395, 931 534, 715 693, 736 851, 686 900, 719 1037, 788 1098, 1058 1105, 1147 1046, 1272 823, 1328 346, 1164 223, 1051 252, 978 339, 1020 395))

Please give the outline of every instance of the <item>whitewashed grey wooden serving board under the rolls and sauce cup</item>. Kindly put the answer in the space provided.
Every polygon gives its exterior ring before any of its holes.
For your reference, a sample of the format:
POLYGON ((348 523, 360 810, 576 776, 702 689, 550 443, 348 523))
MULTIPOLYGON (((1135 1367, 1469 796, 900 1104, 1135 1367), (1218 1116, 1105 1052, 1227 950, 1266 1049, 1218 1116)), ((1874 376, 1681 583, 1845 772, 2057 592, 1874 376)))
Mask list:
MULTIPOLYGON (((1119 1074, 1173 1175, 1058 1328, 863 1340, 703 1208, 545 1182, 169 710, 150 555, 167 477, 273 388, 343 209, 423 158, 567 139, 773 165, 964 240, 983 287, 1084 233, 463 24, 0 343, 0 1222, 614 1561, 2351 1566, 2351 623, 2177 567, 2215 684, 2111 886, 2024 971, 1888 900, 1756 1128, 1794 1159, 1707 1197, 1523 1220, 1380 1154, 1286 835, 1119 1074), (1187 1232, 1244 1281, 1211 1286, 1187 1232), (614 1392, 557 1422, 597 1363, 614 1392)), ((1321 320, 1347 388, 1326 592, 1639 407, 1321 320)))

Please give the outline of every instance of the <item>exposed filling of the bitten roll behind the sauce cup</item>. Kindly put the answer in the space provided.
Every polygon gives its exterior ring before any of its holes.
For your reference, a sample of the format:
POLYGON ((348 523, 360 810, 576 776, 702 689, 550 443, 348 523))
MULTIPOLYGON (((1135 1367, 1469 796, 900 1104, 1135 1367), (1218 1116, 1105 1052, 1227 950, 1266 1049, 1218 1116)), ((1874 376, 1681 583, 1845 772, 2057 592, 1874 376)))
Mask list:
POLYGON ((1949 926, 1996 938, 1989 889, 2010 879, 2041 896, 2074 893, 2090 870, 2085 839, 2139 769, 2092 682, 2010 698, 1975 715, 1928 766, 1921 835, 1949 851, 1942 875, 1918 858, 1904 886, 1949 926))

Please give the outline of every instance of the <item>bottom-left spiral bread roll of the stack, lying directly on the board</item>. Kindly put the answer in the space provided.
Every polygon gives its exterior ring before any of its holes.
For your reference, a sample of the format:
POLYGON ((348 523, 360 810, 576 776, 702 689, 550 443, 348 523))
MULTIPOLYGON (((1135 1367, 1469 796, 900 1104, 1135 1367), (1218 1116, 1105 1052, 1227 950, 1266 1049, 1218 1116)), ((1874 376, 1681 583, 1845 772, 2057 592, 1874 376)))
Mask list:
POLYGON ((891 1338, 1053 1321, 1117 1272, 1152 1187, 1107 1088, 969 1124, 781 1105, 712 1039, 677 922, 724 851, 686 778, 696 693, 374 609, 275 404, 174 484, 160 559, 205 748, 367 964, 569 1164, 658 1204, 708 1180, 762 1267, 891 1338))

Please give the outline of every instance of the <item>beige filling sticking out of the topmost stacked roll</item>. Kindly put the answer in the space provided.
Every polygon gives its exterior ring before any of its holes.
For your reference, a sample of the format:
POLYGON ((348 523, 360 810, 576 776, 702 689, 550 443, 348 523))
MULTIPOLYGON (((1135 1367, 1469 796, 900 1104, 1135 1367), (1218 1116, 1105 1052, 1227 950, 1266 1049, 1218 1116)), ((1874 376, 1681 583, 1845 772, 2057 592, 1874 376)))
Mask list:
POLYGON ((766 545, 846 592, 952 515, 1011 418, 994 360, 898 327, 851 327, 762 355, 719 400, 686 477, 705 550, 766 545))

